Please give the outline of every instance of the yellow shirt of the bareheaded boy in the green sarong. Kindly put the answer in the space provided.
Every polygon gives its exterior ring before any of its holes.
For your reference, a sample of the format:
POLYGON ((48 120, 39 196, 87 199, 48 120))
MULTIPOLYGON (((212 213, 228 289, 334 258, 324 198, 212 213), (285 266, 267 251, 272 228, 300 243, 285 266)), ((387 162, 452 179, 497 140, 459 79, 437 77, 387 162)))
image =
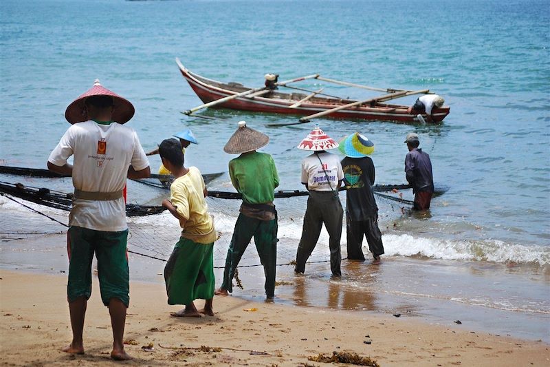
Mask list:
POLYGON ((210 244, 217 238, 214 221, 208 214, 204 198, 204 180, 197 167, 189 167, 186 175, 170 185, 170 201, 177 213, 187 220, 181 237, 194 242, 210 244))

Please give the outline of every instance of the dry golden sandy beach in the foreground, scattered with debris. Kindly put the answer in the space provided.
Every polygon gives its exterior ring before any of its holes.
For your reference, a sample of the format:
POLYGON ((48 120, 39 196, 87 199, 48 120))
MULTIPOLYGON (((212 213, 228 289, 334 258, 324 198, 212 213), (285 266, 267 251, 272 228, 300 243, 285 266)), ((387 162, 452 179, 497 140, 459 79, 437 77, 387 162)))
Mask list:
MULTIPOLYGON (((85 355, 67 355, 66 275, 0 271, 1 361, 7 366, 96 366, 109 359, 111 326, 97 279, 85 324, 85 355)), ((548 366, 550 346, 410 317, 215 297, 214 317, 170 317, 161 284, 131 283, 126 319, 128 365, 324 366, 333 351, 380 366, 548 366), (208 348, 202 348, 206 346, 208 348)), ((197 301, 197 306, 202 302, 197 301)))

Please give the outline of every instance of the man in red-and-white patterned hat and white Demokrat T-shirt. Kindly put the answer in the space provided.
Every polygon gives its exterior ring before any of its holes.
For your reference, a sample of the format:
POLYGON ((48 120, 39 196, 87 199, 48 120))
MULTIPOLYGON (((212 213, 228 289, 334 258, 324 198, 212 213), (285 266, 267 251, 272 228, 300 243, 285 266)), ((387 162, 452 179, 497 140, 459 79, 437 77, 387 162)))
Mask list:
POLYGON ((334 149, 338 143, 329 138, 316 125, 307 137, 298 145, 298 149, 314 151, 313 154, 302 160, 302 183, 309 191, 307 209, 304 216, 302 238, 296 252, 296 273, 304 273, 305 263, 311 252, 314 251, 322 224, 329 233, 329 248, 331 251, 331 271, 340 276, 340 237, 342 235, 342 218, 344 211, 338 189, 342 185, 344 172, 340 159, 336 154, 325 151, 334 149))

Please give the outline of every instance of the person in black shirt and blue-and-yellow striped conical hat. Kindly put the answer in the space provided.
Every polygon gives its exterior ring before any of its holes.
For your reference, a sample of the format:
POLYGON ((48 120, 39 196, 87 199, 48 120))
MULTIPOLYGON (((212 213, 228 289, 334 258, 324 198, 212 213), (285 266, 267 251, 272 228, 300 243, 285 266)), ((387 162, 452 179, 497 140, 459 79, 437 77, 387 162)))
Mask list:
POLYGON ((346 186, 347 249, 349 260, 365 260, 363 236, 373 254, 373 264, 380 264, 384 253, 382 233, 378 228, 378 207, 373 194, 375 168, 367 156, 374 151, 374 143, 355 132, 340 141, 338 147, 346 156, 342 159, 346 186))

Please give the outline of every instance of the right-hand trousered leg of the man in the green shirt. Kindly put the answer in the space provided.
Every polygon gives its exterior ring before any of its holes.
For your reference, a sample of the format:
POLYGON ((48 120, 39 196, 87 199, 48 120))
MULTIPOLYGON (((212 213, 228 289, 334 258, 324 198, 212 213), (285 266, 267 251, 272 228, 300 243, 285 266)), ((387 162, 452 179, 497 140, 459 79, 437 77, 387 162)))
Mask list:
POLYGON ((254 233, 254 243, 265 274, 264 289, 267 298, 274 297, 275 293, 277 241, 277 216, 275 215, 274 220, 261 221, 256 233, 254 233))

